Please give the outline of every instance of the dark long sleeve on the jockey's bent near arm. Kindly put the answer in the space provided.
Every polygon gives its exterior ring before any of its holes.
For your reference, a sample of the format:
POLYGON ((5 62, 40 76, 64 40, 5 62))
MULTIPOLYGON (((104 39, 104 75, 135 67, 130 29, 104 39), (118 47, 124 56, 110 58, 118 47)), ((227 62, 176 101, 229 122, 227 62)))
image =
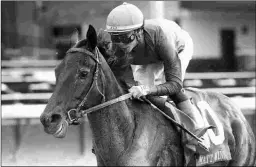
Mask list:
POLYGON ((152 86, 149 94, 156 96, 173 95, 182 88, 181 62, 170 38, 164 34, 160 27, 157 29, 156 33, 155 51, 164 63, 166 82, 152 86))

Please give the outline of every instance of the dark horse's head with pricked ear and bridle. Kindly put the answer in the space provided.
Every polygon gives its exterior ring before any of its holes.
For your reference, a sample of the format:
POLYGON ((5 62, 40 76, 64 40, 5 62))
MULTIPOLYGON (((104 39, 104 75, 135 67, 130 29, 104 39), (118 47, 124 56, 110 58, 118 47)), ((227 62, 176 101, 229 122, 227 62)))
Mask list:
POLYGON ((47 133, 64 137, 77 112, 104 100, 100 63, 105 60, 96 45, 97 34, 90 25, 87 38, 76 43, 56 67, 56 88, 40 117, 47 133))

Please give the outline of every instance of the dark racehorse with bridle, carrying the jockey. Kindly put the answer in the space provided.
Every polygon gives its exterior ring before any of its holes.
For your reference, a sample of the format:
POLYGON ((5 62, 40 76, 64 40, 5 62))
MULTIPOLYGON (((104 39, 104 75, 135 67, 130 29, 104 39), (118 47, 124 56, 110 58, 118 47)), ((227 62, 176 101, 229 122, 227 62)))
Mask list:
MULTIPOLYGON (((56 87, 40 116, 45 132, 63 138, 68 126, 86 113, 98 166, 183 166, 177 127, 149 104, 129 99, 98 50, 93 26, 86 37, 55 69, 56 87)), ((255 164, 255 139, 235 104, 217 93, 190 94, 208 101, 224 127, 232 159, 211 165, 255 164)))

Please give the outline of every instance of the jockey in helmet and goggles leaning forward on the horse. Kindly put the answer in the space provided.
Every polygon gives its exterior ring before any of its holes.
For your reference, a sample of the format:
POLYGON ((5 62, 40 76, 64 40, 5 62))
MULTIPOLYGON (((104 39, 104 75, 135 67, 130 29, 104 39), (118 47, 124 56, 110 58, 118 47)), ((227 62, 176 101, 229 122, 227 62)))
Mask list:
POLYGON ((169 96, 196 122, 193 133, 206 131, 200 112, 182 88, 193 54, 189 34, 170 20, 144 20, 140 9, 129 3, 123 3, 109 13, 106 31, 112 43, 132 58, 133 76, 139 83, 129 89, 133 98, 169 96))

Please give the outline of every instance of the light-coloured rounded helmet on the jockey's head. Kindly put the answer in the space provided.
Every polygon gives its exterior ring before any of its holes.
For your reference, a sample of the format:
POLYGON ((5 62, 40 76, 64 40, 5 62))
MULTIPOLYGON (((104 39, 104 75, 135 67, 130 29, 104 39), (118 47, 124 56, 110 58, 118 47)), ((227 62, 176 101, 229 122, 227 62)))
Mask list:
POLYGON ((140 9, 124 2, 109 13, 106 31, 109 33, 129 32, 142 27, 143 22, 144 17, 140 9))

